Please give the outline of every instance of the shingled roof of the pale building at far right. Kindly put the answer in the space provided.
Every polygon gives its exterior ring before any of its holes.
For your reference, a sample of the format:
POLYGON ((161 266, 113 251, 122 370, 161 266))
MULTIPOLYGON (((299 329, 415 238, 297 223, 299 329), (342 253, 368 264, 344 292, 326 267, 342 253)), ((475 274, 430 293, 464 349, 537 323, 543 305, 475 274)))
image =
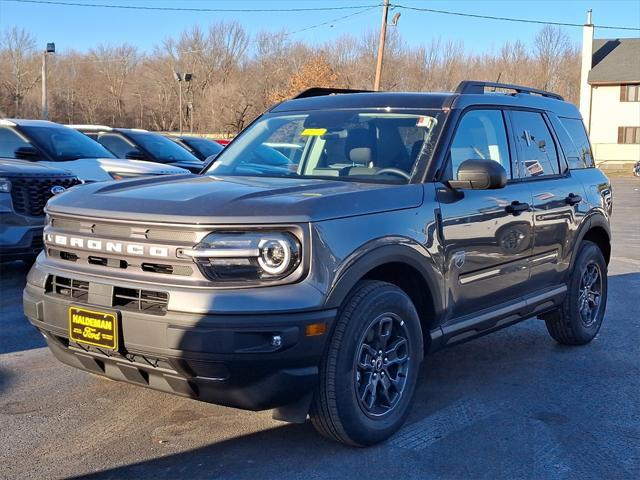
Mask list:
POLYGON ((640 82, 640 38, 598 38, 593 41, 590 84, 640 82))

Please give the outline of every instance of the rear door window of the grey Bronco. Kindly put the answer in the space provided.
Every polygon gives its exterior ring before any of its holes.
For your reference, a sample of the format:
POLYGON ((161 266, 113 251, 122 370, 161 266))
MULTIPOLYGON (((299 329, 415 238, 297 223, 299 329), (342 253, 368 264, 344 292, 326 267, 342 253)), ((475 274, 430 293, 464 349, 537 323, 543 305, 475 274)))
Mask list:
POLYGON ((520 177, 557 175, 558 151, 540 113, 512 111, 513 133, 518 146, 520 177))

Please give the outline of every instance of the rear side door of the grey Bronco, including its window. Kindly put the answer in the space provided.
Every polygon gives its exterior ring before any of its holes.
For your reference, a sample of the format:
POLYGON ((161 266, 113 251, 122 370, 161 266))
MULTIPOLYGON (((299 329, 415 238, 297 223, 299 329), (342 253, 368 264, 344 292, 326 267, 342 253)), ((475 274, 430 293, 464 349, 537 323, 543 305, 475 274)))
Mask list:
POLYGON ((571 260, 573 238, 584 215, 584 189, 571 176, 548 114, 511 110, 509 117, 518 155, 518 177, 533 195, 529 289, 551 289, 562 283, 571 260))

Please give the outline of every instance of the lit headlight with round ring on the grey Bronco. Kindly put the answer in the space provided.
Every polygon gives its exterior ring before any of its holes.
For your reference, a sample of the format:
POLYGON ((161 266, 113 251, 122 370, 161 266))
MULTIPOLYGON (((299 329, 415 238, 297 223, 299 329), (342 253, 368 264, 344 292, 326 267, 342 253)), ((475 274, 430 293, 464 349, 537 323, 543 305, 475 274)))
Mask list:
POLYGON ((193 258, 215 281, 280 280, 300 265, 301 247, 290 232, 215 232, 178 256, 193 258))

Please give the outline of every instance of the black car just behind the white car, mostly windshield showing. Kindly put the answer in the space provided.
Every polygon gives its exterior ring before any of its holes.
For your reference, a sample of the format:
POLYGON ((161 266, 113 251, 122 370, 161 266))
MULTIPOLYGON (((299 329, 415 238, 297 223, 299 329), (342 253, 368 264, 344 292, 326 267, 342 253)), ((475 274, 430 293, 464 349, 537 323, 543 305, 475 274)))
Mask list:
POLYGON ((100 143, 116 157, 164 163, 198 173, 203 164, 195 155, 167 137, 139 128, 104 125, 68 125, 100 143))

